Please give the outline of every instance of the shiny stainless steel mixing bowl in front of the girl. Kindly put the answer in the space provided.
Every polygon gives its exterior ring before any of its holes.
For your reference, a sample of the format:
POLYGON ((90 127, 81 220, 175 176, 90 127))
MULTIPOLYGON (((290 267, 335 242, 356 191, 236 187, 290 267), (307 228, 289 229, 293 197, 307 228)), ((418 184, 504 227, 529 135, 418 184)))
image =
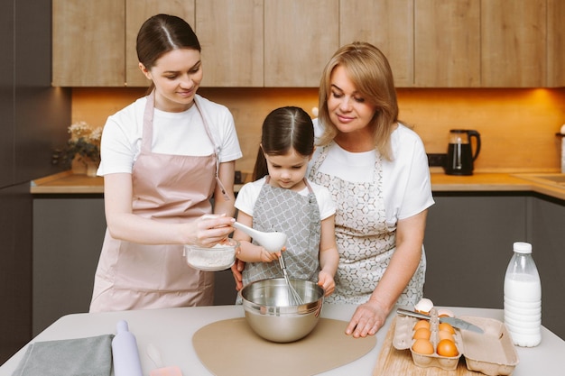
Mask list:
POLYGON ((292 300, 289 300, 290 291, 283 278, 257 280, 240 292, 247 323, 266 340, 297 341, 318 324, 324 289, 310 280, 291 280, 291 283, 304 304, 289 305, 292 300))

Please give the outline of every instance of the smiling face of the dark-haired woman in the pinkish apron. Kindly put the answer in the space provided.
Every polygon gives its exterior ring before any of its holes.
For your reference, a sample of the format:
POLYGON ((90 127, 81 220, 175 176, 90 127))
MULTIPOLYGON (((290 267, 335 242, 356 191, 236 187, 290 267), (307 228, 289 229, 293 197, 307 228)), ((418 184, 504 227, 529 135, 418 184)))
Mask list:
POLYGON ((199 50, 179 49, 166 52, 153 68, 139 64, 146 78, 155 85, 155 108, 167 112, 182 112, 194 103, 202 80, 199 50))

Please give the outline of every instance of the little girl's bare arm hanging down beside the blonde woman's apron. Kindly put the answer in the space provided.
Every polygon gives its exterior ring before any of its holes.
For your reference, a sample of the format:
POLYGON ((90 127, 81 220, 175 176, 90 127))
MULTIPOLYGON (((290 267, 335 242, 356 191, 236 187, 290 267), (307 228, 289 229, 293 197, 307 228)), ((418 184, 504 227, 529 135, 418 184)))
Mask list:
POLYGON ((329 296, 336 288, 334 276, 338 271, 339 253, 336 245, 335 215, 321 221, 320 230, 320 273, 318 284, 329 296))

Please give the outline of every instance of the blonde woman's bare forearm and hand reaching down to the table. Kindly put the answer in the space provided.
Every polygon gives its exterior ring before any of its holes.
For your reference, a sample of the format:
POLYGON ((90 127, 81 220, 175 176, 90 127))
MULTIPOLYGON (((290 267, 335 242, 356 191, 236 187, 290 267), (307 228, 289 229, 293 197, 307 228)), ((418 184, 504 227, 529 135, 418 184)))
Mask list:
POLYGON ((347 335, 375 335, 384 325, 386 316, 393 309, 420 263, 427 214, 426 209, 420 214, 398 221, 393 257, 369 301, 357 307, 347 326, 347 335))

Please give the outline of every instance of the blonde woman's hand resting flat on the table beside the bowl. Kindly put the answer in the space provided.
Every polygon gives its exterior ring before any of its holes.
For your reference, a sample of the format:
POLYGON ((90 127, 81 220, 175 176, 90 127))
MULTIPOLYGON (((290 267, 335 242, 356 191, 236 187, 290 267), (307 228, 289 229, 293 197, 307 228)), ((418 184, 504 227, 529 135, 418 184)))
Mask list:
POLYGON ((386 316, 388 310, 381 307, 376 300, 369 300, 355 310, 346 328, 346 335, 353 335, 355 338, 375 335, 384 325, 386 316))

